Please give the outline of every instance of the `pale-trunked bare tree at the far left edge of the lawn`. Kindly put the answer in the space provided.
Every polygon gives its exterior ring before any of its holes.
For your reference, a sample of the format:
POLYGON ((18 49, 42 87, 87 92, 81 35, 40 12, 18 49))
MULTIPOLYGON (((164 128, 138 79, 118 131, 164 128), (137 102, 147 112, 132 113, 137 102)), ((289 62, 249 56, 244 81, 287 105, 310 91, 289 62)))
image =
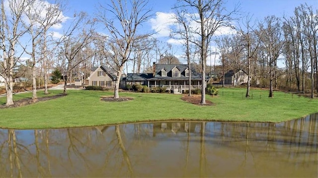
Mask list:
POLYGON ((17 54, 16 45, 19 39, 25 34, 25 29, 22 27, 22 15, 28 7, 27 0, 1 0, 1 17, 0 17, 0 55, 3 57, 1 62, 4 69, 1 75, 5 79, 6 104, 13 105, 13 67, 17 59, 22 54, 17 54), (8 6, 5 6, 7 4, 8 6))

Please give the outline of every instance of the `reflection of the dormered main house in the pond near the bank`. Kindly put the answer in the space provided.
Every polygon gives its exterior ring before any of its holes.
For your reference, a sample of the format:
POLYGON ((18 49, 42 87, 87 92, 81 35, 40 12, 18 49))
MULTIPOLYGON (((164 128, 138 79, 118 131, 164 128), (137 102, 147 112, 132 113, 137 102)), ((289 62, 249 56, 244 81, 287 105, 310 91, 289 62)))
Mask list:
POLYGON ((153 124, 153 137, 158 133, 177 134, 194 133, 200 131, 201 122, 155 122, 153 124))

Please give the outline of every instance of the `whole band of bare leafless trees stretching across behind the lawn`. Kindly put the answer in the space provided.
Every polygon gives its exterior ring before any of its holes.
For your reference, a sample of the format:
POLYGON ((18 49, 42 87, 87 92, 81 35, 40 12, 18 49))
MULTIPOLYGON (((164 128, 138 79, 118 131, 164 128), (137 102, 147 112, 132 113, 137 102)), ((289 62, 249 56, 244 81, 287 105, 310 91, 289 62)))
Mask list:
MULTIPOLYGON (((55 69, 66 79, 66 94, 68 81, 84 81, 91 67, 98 65, 112 68, 120 78, 123 72, 152 72, 154 61, 180 63, 174 46, 154 38, 155 32, 143 29, 154 15, 147 3, 133 0, 128 7, 125 1, 111 0, 100 4, 94 16, 79 12, 71 20, 63 14, 67 8, 63 1, 1 0, 0 76, 4 78, 6 105, 13 104, 13 79, 21 73, 32 81, 32 98, 37 99, 36 86, 43 83, 48 93, 47 84, 55 69), (63 33, 55 32, 65 21, 69 23, 63 26, 63 33), (103 33, 97 32, 97 24, 103 33)), ((224 7, 222 0, 181 0, 172 8, 175 23, 170 36, 184 46, 181 58, 200 71, 202 78, 209 71, 221 78, 230 69, 242 68, 251 78, 248 83, 269 87, 271 97, 273 89, 281 88, 310 92, 313 98, 318 92, 317 9, 302 4, 291 17, 268 16, 257 22, 247 17, 233 27, 236 18, 232 15, 238 8, 226 11, 224 7), (203 13, 197 16, 198 11, 203 13), (191 25, 194 21, 197 26, 191 25), (221 27, 229 26, 237 33, 215 35, 221 27), (211 50, 213 42, 217 50, 211 50), (216 54, 221 65, 209 65, 207 59, 216 54)), ((119 80, 116 82, 117 98, 119 80)), ((205 104, 205 91, 202 93, 205 104)))

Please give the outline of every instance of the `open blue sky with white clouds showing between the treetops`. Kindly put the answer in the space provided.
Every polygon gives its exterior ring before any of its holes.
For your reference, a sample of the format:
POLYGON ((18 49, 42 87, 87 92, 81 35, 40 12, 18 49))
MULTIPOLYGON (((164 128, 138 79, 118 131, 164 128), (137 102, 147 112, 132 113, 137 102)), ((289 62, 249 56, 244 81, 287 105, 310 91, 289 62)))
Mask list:
MULTIPOLYGON (((54 0, 48 1, 54 2, 54 0)), ((67 0, 63 2, 67 3, 67 9, 63 12, 66 20, 64 20, 62 24, 59 24, 59 29, 52 29, 52 32, 54 32, 56 36, 62 35, 63 28, 67 27, 67 24, 72 21, 75 12, 84 11, 93 18, 96 16, 100 4, 106 6, 110 0, 67 0)), ((171 28, 169 22, 171 21, 171 14, 173 14, 172 7, 176 2, 176 0, 149 0, 148 5, 153 9, 155 15, 147 23, 143 24, 143 28, 157 31, 158 33, 155 37, 158 38, 159 41, 172 44, 174 55, 180 57, 182 56, 182 51, 180 50, 182 48, 181 45, 169 37, 169 29, 171 28)), ((305 3, 312 5, 315 10, 318 8, 318 0, 228 0, 226 8, 231 10, 239 4, 239 9, 243 17, 249 14, 254 20, 262 20, 269 15, 275 15, 277 17, 283 17, 284 15, 291 16, 293 15, 295 7, 305 3)), ((108 33, 102 28, 98 28, 97 31, 103 34, 108 33)), ((223 28, 221 31, 222 33, 233 33, 233 30, 230 28, 223 28)), ((211 44, 210 48, 215 49, 216 46, 211 44)), ((179 60, 185 63, 184 59, 179 58, 179 60)), ((216 63, 218 63, 218 57, 216 57, 216 60, 216 63)), ((214 63, 214 57, 208 57, 207 64, 210 63, 214 63)))

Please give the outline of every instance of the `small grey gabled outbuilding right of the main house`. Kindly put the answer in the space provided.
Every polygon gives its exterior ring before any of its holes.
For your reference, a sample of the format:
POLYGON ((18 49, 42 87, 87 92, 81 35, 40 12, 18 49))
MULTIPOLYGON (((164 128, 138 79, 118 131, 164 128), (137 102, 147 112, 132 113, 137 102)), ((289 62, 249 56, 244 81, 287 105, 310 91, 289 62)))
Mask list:
MULTIPOLYGON (((243 69, 229 70, 224 77, 225 85, 241 85, 242 83, 247 83, 248 75, 243 69)), ((221 83, 223 82, 223 78, 221 83)))

